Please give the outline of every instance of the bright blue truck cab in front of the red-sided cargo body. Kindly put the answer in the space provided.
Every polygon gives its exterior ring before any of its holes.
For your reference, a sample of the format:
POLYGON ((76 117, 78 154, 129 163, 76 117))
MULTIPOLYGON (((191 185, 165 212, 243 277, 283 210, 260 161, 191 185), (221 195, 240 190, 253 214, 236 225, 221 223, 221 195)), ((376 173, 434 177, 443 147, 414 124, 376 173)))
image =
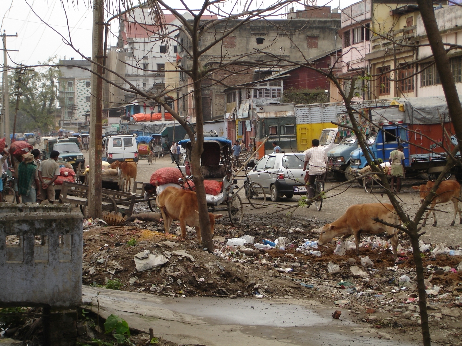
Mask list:
MULTIPOLYGON (((390 153, 398 149, 398 145, 404 146, 404 164, 410 166, 409 162, 409 141, 406 124, 390 124, 383 126, 378 132, 372 132, 366 140, 369 151, 373 153, 377 159, 382 159, 384 162, 390 158, 390 153)), ((362 168, 367 166, 366 158, 364 157, 361 148, 354 150, 351 153, 351 168, 352 173, 358 173, 362 168)))

